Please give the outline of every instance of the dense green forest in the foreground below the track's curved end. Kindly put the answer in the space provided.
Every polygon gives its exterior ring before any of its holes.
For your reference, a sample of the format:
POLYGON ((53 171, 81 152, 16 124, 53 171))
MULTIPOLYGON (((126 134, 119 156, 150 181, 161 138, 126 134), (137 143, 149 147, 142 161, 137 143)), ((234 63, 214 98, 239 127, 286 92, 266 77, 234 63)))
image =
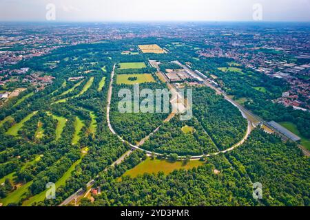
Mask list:
MULTIPOLYGON (((131 155, 123 166, 101 175, 102 193, 83 206, 309 206, 309 159, 292 143, 256 130, 237 151, 208 157, 205 165, 169 175, 122 177, 124 166, 139 161, 131 155), (214 173, 214 169, 220 173, 214 173), (290 173, 290 174, 289 174, 290 173), (261 182, 263 197, 254 200, 251 182, 261 182)), ((143 157, 141 157, 143 159, 143 157)))

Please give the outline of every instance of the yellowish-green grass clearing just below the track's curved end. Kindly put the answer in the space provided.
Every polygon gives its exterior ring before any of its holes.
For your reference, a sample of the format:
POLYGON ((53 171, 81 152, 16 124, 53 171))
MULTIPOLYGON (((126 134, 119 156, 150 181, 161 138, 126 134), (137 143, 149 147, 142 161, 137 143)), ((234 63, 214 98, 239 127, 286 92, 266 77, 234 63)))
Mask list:
POLYGON ((200 162, 198 160, 191 160, 186 165, 183 162, 169 162, 163 159, 151 159, 148 157, 145 159, 144 162, 138 164, 131 170, 127 170, 123 176, 129 175, 130 177, 134 178, 137 175, 143 175, 144 173, 159 173, 163 172, 165 175, 171 173, 173 170, 180 170, 180 169, 191 169, 197 166, 203 165, 205 162, 200 162))

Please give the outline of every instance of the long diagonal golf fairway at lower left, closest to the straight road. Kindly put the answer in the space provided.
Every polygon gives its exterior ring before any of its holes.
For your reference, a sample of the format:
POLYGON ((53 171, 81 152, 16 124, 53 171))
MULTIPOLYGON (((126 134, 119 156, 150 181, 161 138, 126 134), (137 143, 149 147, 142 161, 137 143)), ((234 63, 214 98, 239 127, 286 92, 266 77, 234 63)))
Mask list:
MULTIPOLYGON (((71 177, 72 172, 74 171, 75 167, 81 163, 82 158, 79 159, 78 161, 76 161, 74 164, 72 164, 72 166, 70 166, 70 168, 63 174, 63 176, 58 181, 56 181, 56 183, 55 183, 56 189, 59 188, 60 186, 65 185, 65 181, 67 181, 67 179, 69 179, 71 177)), ((35 195, 34 197, 31 197, 30 199, 24 201, 23 206, 31 206, 32 203, 34 203, 34 202, 44 201, 46 192, 47 192, 47 190, 45 190, 45 191, 39 193, 38 195, 35 195)))

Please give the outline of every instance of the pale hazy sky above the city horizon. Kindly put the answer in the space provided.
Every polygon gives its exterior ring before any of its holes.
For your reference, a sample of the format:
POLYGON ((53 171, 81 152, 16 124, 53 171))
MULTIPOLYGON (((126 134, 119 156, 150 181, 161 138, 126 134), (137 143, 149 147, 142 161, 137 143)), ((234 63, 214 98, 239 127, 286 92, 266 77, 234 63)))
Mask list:
POLYGON ((310 0, 0 0, 0 21, 310 21, 309 10, 310 0))

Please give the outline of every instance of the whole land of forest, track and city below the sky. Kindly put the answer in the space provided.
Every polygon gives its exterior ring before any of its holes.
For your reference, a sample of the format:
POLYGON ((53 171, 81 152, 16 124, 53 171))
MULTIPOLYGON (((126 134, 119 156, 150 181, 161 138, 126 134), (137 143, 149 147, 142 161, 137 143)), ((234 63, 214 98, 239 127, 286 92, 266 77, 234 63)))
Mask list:
POLYGON ((310 206, 309 14, 0 18, 0 206, 310 206))

